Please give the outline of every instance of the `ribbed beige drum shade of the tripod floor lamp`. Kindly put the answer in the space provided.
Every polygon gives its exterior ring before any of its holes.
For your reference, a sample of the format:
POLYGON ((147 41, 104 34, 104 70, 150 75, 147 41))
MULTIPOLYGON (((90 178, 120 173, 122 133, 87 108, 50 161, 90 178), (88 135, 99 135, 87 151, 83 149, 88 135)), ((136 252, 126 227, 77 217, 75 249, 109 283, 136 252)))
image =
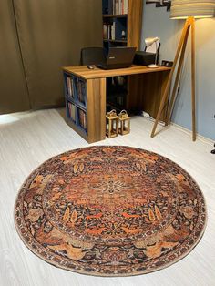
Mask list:
POLYGON ((172 0, 171 19, 188 17, 205 18, 214 16, 215 0, 172 0))

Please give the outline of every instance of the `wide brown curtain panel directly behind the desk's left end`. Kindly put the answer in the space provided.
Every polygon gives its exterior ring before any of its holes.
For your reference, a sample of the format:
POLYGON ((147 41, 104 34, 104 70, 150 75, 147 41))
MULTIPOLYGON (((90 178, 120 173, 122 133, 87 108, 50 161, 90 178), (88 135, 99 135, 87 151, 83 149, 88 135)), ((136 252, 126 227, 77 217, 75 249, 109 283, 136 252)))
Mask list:
POLYGON ((102 46, 101 1, 14 0, 13 3, 30 106, 62 106, 61 67, 78 65, 81 47, 102 46))

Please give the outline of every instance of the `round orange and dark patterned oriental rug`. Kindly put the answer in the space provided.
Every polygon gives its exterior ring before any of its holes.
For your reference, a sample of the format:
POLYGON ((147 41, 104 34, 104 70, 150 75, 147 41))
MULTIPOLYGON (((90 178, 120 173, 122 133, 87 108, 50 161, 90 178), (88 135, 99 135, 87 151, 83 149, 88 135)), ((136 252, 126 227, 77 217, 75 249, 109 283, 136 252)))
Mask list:
POLYGON ((79 148, 50 158, 24 183, 16 229, 47 262, 128 276, 180 260, 200 240, 205 201, 168 158, 138 148, 79 148))

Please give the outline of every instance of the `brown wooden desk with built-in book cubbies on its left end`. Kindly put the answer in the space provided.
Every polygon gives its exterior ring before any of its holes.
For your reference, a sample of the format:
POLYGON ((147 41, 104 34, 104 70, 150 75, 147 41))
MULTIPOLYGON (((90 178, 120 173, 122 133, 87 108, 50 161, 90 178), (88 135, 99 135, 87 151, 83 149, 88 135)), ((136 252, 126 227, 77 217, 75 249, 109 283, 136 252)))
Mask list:
MULTIPOLYGON (((147 66, 131 66, 128 68, 103 70, 99 68, 88 69, 87 66, 66 66, 63 67, 65 82, 67 77, 80 78, 85 82, 86 107, 86 129, 80 128, 75 122, 68 118, 67 123, 74 128, 78 134, 87 140, 88 143, 97 142, 106 138, 106 77, 128 76, 128 85, 132 94, 128 94, 127 107, 132 110, 142 107, 150 116, 156 117, 159 110, 160 98, 166 87, 169 78, 169 67, 148 68, 147 66)), ((66 87, 66 102, 67 87, 66 87)), ((73 102, 76 106, 76 99, 73 102)), ((76 108, 82 108, 78 104, 76 108)), ((165 119, 164 111, 160 119, 165 119)), ((78 122, 78 118, 77 118, 78 122)), ((83 124, 82 124, 83 126, 83 124)))

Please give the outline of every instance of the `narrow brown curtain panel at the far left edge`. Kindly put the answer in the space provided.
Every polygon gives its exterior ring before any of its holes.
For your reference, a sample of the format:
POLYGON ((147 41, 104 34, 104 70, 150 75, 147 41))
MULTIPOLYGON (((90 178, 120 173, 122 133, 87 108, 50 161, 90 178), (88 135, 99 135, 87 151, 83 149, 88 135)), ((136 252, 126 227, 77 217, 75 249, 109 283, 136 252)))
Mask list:
POLYGON ((0 114, 30 109, 13 3, 0 1, 0 114))

